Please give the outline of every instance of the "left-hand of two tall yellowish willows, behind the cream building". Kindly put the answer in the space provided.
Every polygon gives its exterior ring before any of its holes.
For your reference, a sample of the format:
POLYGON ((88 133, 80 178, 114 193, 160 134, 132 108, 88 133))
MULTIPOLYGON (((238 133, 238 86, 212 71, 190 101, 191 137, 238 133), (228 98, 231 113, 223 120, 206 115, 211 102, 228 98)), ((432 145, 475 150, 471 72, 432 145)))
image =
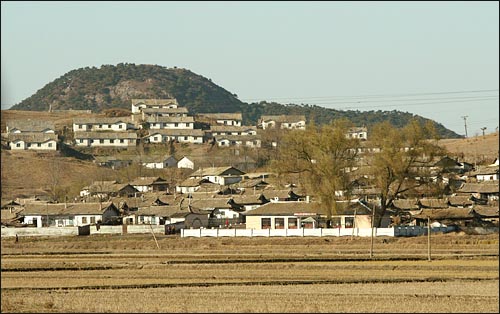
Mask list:
POLYGON ((352 124, 345 119, 286 134, 273 167, 280 174, 300 174, 308 192, 316 195, 328 219, 338 213, 340 191, 349 189, 359 140, 347 137, 352 124))

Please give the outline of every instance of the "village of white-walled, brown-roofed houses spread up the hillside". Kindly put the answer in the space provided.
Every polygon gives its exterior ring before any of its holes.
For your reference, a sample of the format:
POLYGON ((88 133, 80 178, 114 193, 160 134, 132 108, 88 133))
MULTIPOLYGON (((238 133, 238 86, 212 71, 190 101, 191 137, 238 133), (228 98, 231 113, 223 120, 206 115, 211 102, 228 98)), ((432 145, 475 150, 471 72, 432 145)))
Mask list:
MULTIPOLYGON (((2 198, 2 228, 92 226, 98 232, 106 225, 150 225, 165 226, 166 234, 183 229, 341 229, 347 235, 353 228, 373 227, 380 191, 364 183, 363 176, 352 182, 349 195, 335 191, 336 213, 331 215, 298 181, 283 182, 273 171, 258 171, 256 160, 239 154, 242 149, 276 148, 280 143, 269 132, 305 130, 306 125, 305 116, 298 115, 266 115, 257 125, 248 126, 242 125, 241 113, 191 116, 175 98, 133 99, 130 116, 74 118, 65 134, 47 121, 6 121, 2 149, 11 154, 57 152, 64 146, 91 155, 100 167, 123 169, 139 164, 146 169, 183 169, 187 175, 175 181, 162 176, 138 176, 128 182, 94 178, 78 196, 64 202, 46 195, 2 198), (238 153, 207 161, 210 151, 182 158, 130 152, 138 147, 168 152, 173 143, 238 153)), ((359 126, 345 136, 365 143, 370 135, 359 126)), ((432 227, 449 231, 498 230, 498 158, 478 166, 445 157, 436 160, 431 170, 436 174, 433 180, 450 186, 449 193, 436 198, 422 191, 394 200, 380 217, 380 228, 423 227, 430 222, 432 227)))

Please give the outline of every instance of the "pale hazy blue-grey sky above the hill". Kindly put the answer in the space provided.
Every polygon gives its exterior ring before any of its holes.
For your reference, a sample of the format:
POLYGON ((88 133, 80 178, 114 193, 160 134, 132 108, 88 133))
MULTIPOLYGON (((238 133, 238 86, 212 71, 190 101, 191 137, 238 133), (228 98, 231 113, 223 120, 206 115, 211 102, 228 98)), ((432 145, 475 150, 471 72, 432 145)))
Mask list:
POLYGON ((246 102, 399 110, 490 133, 498 15, 497 1, 2 1, 1 105, 81 67, 157 64, 246 102))

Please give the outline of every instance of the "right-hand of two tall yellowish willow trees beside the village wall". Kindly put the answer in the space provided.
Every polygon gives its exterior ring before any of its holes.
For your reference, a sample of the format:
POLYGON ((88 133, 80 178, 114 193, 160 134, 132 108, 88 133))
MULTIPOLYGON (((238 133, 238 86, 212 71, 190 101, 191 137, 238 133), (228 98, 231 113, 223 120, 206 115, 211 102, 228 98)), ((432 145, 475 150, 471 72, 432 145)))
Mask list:
POLYGON ((381 218, 393 200, 434 183, 431 180, 432 166, 445 151, 437 145, 433 125, 422 125, 417 120, 412 120, 402 129, 389 122, 379 123, 371 130, 369 139, 375 152, 366 154, 363 161, 370 181, 380 191, 380 208, 374 221, 375 226, 380 226, 381 218))

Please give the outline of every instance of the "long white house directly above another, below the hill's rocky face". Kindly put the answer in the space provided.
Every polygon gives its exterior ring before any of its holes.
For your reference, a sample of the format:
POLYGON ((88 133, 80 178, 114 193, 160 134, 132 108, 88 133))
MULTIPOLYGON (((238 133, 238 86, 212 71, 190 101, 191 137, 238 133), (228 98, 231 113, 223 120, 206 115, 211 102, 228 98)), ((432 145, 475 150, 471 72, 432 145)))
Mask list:
POLYGON ((134 124, 128 117, 96 117, 96 118, 74 118, 73 132, 92 131, 114 131, 126 132, 133 129, 134 124))

